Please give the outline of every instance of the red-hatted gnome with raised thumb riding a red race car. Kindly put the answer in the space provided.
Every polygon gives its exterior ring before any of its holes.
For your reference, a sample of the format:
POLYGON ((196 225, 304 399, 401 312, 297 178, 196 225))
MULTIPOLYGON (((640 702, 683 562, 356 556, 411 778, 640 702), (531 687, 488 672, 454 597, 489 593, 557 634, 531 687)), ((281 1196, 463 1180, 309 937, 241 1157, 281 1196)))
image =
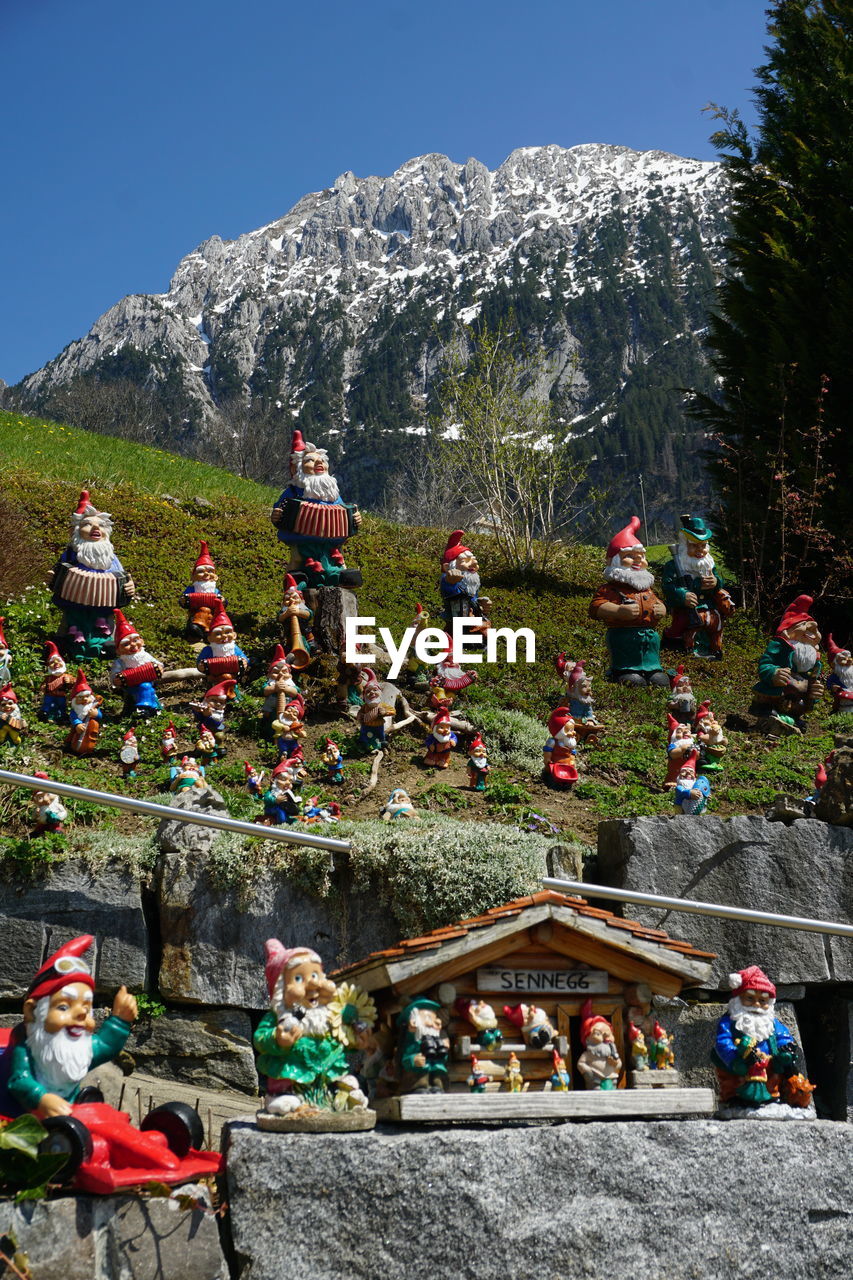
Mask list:
POLYGON ((95 979, 81 934, 50 956, 23 1002, 23 1021, 0 1030, 0 1114, 32 1111, 47 1130, 41 1149, 67 1156, 58 1181, 88 1192, 160 1181, 177 1184, 222 1171, 222 1156, 202 1152, 199 1115, 181 1102, 150 1111, 140 1129, 108 1106, 100 1091, 81 1088, 87 1073, 124 1047, 136 1000, 122 987, 109 1018, 95 1029, 95 979))

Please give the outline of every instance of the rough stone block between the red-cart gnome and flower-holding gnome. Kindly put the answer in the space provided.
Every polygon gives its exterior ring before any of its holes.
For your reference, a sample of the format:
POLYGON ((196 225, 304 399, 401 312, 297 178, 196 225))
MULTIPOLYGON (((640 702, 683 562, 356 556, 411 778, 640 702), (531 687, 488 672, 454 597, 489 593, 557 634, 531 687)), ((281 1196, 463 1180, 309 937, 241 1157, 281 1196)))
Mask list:
POLYGON ((141 1071, 195 1084, 200 1089, 257 1092, 248 1014, 209 1009, 142 1019, 127 1052, 141 1071))

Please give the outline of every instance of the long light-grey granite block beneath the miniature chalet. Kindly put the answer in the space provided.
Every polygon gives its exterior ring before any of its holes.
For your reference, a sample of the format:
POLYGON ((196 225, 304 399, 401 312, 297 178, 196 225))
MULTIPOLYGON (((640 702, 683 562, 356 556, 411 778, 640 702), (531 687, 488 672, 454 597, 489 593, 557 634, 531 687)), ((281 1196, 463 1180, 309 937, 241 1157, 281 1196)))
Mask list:
POLYGON ((430 1280, 850 1275, 853 1130, 831 1121, 377 1129, 310 1140, 232 1121, 225 1142, 234 1247, 250 1261, 243 1280, 405 1280, 415 1270, 430 1280), (775 1193, 760 1194, 757 1212, 752 1176, 771 1171, 775 1193), (296 1230, 304 1204, 321 1228, 296 1230))

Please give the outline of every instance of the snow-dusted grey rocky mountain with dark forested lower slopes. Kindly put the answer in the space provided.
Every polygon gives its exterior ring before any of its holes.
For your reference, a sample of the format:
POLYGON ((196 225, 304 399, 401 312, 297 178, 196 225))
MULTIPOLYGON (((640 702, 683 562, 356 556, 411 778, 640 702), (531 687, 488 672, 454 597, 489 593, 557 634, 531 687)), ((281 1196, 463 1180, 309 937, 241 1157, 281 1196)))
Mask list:
POLYGON ((345 173, 236 241, 214 236, 168 293, 122 300, 19 389, 44 403, 132 353, 191 434, 236 401, 336 433, 364 498, 378 436, 393 454, 424 433, 464 326, 512 314, 546 352, 539 392, 565 394, 579 435, 605 433, 608 453, 648 468, 680 429, 675 388, 707 380, 698 339, 724 234, 715 164, 603 145, 525 147, 494 172, 419 156, 388 178, 345 173))

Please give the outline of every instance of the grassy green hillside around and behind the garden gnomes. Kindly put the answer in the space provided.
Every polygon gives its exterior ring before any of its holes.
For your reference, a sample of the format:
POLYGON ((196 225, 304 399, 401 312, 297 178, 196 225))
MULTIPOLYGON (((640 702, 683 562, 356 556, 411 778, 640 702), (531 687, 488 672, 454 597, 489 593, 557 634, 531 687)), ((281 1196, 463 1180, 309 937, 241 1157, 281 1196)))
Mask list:
MULTIPOLYGON (((8 492, 20 504, 19 527, 26 527, 38 548, 32 557, 29 588, 3 605, 14 655, 14 682, 31 723, 31 735, 19 748, 0 748, 3 764, 24 771, 42 767, 69 782, 95 783, 138 796, 165 790, 159 756, 160 724, 165 717, 140 728, 142 762, 138 777, 127 782, 117 760, 126 722, 105 721, 97 756, 78 760, 63 753, 65 731, 41 724, 36 718, 41 644, 53 634, 58 618, 47 590, 40 584, 67 541, 79 489, 87 486, 93 502, 113 513, 118 554, 137 582, 138 598, 127 612, 146 646, 168 668, 195 666, 195 652, 182 635, 184 613, 177 598, 190 581, 200 539, 209 541, 240 643, 254 660, 245 701, 229 722, 229 754, 211 767, 209 776, 236 815, 252 817, 257 809, 243 791, 243 760, 266 769, 274 763, 273 748, 260 742, 256 732, 266 660, 279 639, 274 617, 284 561, 268 520, 272 492, 160 451, 19 415, 3 415, 0 433, 8 492), (35 448, 37 444, 40 448, 35 448)), ((5 539, 14 536, 15 529, 3 531, 5 539)), ((439 554, 444 541, 446 530, 403 529, 366 516, 348 554, 350 563, 364 572, 359 591, 361 614, 375 616, 378 625, 392 627, 396 635, 409 625, 418 602, 437 618, 439 554)), ((603 628, 587 617, 601 572, 601 550, 567 548, 553 575, 521 585, 497 561, 487 538, 476 539, 476 548, 484 590, 493 600, 493 621, 500 626, 532 626, 537 634, 535 664, 479 667, 478 684, 457 704, 483 730, 491 748, 496 765, 492 786, 484 795, 467 790, 462 751, 447 773, 424 769, 423 736, 403 733, 393 741, 391 756, 383 763, 379 786, 364 797, 369 762, 357 754, 351 723, 333 709, 334 663, 321 658, 304 681, 311 708, 306 754, 309 763, 315 762, 316 746, 327 735, 342 745, 350 758, 347 782, 336 797, 343 804, 345 815, 356 824, 375 819, 388 791, 398 783, 430 813, 478 824, 520 826, 530 831, 537 844, 542 837, 552 840, 555 832, 561 838, 576 835, 594 844, 601 818, 674 812, 661 786, 666 768, 665 698, 658 691, 629 691, 606 682, 603 628), (560 695, 553 659, 561 649, 574 658, 587 658, 598 713, 608 728, 603 748, 583 753, 581 781, 570 794, 551 791, 539 777, 539 753, 547 736, 544 722, 560 695)), ((656 549, 658 558, 666 554, 665 548, 656 549)), ((736 617, 726 628, 726 659, 716 664, 690 663, 697 696, 712 699, 729 737, 726 771, 713 785, 716 813, 758 813, 779 788, 806 795, 815 765, 831 748, 829 704, 813 717, 806 739, 768 746, 749 732, 751 722, 744 713, 763 643, 747 618, 736 617)), ((679 659, 665 654, 663 660, 675 666, 679 659)), ((106 666, 91 662, 86 669, 92 687, 104 695, 105 712, 118 716, 120 699, 108 689, 106 666)), ((200 685, 173 685, 161 694, 186 750, 193 741, 186 704, 199 689, 200 685)), ((314 792, 332 795, 319 781, 306 783, 306 794, 314 792)), ((147 835, 147 824, 132 817, 73 808, 74 823, 68 838, 54 837, 35 850, 23 842, 29 822, 27 797, 0 792, 0 817, 6 819, 0 850, 6 858, 27 859, 35 852, 45 856, 51 850, 90 846, 93 831, 101 836, 111 832, 113 846, 117 840, 140 840, 147 835)), ((501 827, 485 829, 493 829, 491 856, 497 856, 501 827)), ((365 837, 366 833, 368 827, 365 837)), ((446 835, 442 838, 447 841, 446 835)), ((488 844, 485 837, 482 840, 488 844)))

